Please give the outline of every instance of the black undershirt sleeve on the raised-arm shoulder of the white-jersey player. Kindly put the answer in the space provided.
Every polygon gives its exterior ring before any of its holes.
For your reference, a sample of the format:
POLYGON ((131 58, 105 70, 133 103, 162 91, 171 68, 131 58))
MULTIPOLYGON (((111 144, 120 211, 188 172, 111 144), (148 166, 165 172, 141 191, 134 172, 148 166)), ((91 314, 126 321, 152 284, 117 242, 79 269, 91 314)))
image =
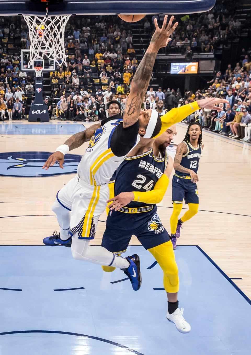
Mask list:
POLYGON ((130 152, 135 144, 139 130, 138 121, 132 126, 123 127, 123 124, 119 124, 112 135, 110 147, 112 152, 117 157, 123 157, 130 152))

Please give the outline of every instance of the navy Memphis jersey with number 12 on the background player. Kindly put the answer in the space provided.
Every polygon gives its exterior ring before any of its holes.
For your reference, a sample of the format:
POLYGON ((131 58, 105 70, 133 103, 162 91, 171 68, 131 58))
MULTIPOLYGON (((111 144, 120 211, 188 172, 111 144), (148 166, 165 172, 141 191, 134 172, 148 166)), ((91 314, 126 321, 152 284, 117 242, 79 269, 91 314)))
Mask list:
MULTIPOLYGON (((182 155, 182 159, 180 162, 181 166, 184 166, 184 168, 193 170, 196 174, 199 168, 199 160, 200 160, 200 155, 201 155, 201 146, 198 145, 197 148, 194 148, 190 142, 185 142, 187 146, 187 153, 182 155)), ((175 175, 177 176, 190 176, 190 174, 187 173, 181 173, 181 171, 175 170, 175 175)))

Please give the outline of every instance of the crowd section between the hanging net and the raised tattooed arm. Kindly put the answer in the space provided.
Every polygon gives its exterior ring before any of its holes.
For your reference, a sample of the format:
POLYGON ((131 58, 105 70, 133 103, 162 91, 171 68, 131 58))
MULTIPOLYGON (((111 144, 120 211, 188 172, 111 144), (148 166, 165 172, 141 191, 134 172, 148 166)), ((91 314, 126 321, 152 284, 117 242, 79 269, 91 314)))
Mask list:
POLYGON ((50 73, 52 97, 60 97, 52 118, 96 121, 107 116, 111 100, 124 107, 138 60, 130 24, 116 20, 75 17, 67 24, 68 65, 50 73))

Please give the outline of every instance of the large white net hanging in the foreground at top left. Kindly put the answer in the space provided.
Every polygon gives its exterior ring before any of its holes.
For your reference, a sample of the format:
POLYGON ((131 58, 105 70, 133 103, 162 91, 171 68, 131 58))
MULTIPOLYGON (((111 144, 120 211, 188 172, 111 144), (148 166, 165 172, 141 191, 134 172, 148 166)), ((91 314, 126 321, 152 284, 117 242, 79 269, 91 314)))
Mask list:
POLYGON ((24 16, 29 27, 30 36, 30 60, 28 67, 34 64, 35 60, 55 60, 58 65, 67 65, 64 50, 64 30, 69 20, 69 15, 61 16, 24 16), (59 63, 62 60, 62 63, 59 63))

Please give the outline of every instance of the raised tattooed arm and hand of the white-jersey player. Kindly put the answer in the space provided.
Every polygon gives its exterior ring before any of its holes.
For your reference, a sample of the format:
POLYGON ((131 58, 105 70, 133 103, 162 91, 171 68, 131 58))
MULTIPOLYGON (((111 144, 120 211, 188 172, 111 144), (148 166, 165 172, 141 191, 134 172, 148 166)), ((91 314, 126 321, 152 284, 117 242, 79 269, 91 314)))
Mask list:
POLYGON ((132 79, 130 94, 126 101, 126 106, 123 115, 123 127, 132 126, 138 120, 138 116, 141 110, 141 104, 143 101, 144 94, 148 88, 150 78, 153 71, 153 65, 155 62, 158 50, 161 47, 166 47, 167 43, 170 42, 170 35, 173 33, 178 25, 176 22, 172 26, 172 21, 174 16, 170 18, 167 24, 167 15, 164 17, 164 22, 162 28, 159 28, 157 20, 155 18, 155 32, 151 39, 150 45, 140 62, 137 71, 132 79))

